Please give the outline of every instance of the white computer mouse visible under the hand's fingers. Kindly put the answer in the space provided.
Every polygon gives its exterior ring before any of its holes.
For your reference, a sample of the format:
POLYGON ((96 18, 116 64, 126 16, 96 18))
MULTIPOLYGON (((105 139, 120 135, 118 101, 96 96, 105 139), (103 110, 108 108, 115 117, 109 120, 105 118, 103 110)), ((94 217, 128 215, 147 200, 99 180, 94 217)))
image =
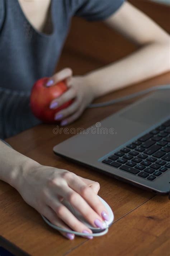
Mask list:
MULTIPOLYGON (((98 196, 99 197, 99 196, 98 196)), ((112 209, 110 208, 110 206, 108 205, 107 202, 105 202, 103 200, 103 198, 99 197, 100 201, 103 203, 103 205, 105 206, 108 214, 109 214, 109 221, 104 221, 105 222, 105 228, 108 228, 109 226, 112 225, 113 221, 114 221, 114 214, 113 214, 113 211, 112 209)), ((98 233, 98 232, 101 232, 101 230, 103 229, 100 229, 100 228, 95 228, 93 226, 91 226, 87 220, 84 219, 84 217, 80 214, 80 212, 78 212, 68 201, 66 201, 65 199, 62 201, 62 204, 65 205, 70 212, 72 212, 72 214, 74 214, 76 216, 76 218, 78 220, 80 220, 82 223, 84 223, 86 226, 88 226, 88 228, 91 229, 91 231, 93 233, 98 233)))

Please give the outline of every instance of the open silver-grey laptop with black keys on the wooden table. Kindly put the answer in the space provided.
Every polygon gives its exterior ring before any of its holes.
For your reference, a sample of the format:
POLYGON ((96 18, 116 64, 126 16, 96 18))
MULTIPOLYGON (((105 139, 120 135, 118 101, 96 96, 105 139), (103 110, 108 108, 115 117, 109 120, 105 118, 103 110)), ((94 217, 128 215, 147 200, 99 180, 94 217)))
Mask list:
POLYGON ((79 131, 54 153, 154 193, 170 192, 170 90, 79 131))

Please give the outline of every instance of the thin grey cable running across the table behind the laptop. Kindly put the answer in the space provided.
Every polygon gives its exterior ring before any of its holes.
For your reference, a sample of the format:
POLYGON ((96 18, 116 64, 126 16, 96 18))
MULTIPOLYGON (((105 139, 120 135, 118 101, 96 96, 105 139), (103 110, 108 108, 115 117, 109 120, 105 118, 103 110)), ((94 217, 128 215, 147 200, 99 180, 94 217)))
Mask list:
POLYGON ((107 106, 110 106, 110 105, 115 104, 115 103, 118 103, 118 102, 123 102, 124 100, 133 99, 133 98, 135 98, 135 97, 137 97, 137 96, 141 96, 141 95, 143 95, 143 94, 150 93, 151 91, 155 91, 155 90, 166 90, 166 89, 170 89, 170 85, 154 86, 154 87, 148 88, 148 89, 146 89, 146 90, 139 91, 139 92, 137 92, 137 93, 132 93, 132 94, 130 94, 130 95, 123 96, 123 97, 118 98, 118 99, 114 99, 114 100, 110 100, 110 101, 102 102, 102 103, 93 103, 93 104, 90 104, 90 105, 88 106, 88 108, 107 107, 107 106))

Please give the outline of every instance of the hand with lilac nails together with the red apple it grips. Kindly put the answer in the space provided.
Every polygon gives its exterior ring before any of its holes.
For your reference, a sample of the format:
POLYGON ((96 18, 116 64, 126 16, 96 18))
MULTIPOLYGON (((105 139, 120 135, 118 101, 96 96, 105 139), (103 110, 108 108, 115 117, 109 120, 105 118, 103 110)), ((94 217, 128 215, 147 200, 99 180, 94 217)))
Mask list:
POLYGON ((86 77, 73 77, 72 70, 65 68, 34 84, 30 105, 34 115, 42 121, 61 121, 63 126, 80 117, 94 97, 93 87, 86 77))

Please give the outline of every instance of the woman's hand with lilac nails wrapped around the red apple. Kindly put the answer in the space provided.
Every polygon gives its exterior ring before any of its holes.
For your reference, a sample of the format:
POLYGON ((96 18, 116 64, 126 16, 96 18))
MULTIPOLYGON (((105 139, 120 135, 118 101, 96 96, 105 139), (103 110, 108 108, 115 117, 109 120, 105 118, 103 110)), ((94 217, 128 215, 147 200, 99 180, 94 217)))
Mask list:
POLYGON ((62 69, 60 72, 49 78, 47 86, 65 80, 69 90, 51 102, 50 108, 55 109, 74 99, 74 102, 67 108, 57 112, 55 120, 61 121, 61 125, 67 125, 81 116, 85 108, 93 101, 95 94, 92 86, 84 76, 72 76, 70 68, 62 69))

